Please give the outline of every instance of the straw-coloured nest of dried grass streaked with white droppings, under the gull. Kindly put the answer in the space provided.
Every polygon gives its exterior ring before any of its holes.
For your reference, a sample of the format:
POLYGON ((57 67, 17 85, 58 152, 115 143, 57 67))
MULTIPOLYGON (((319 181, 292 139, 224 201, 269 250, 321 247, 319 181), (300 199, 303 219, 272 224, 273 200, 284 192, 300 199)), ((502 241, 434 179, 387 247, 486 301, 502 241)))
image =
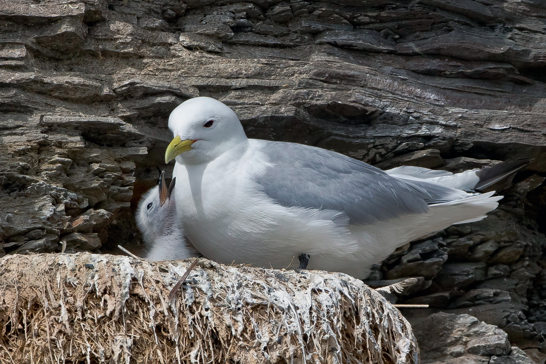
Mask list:
POLYGON ((417 363, 400 312, 342 273, 140 261, 0 259, 0 363, 417 363))

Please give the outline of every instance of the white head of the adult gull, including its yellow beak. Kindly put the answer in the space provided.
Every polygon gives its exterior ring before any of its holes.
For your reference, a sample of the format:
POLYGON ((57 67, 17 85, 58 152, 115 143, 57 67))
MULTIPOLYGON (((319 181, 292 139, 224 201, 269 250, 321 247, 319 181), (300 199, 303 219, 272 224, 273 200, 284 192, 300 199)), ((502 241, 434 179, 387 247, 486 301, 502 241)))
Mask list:
POLYGON ((196 97, 180 104, 169 116, 174 134, 165 163, 201 164, 247 145, 245 130, 235 112, 218 100, 196 97))

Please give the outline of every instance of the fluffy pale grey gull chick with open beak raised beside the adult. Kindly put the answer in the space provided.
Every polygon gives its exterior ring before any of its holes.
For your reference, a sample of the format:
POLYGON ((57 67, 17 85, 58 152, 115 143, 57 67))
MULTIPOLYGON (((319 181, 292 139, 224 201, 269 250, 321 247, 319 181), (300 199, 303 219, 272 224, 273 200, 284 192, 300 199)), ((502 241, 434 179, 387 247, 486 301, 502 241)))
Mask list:
POLYGON ((176 218, 176 202, 171 198, 176 178, 167 188, 165 171, 161 172, 156 187, 140 199, 136 224, 144 237, 146 259, 170 260, 200 256, 184 236, 182 222, 176 218))

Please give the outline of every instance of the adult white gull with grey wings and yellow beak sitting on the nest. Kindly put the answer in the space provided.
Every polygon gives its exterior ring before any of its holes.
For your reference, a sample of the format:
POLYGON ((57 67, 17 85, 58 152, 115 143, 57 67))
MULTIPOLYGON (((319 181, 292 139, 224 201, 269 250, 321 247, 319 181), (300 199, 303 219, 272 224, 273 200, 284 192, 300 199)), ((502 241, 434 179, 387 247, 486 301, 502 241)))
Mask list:
POLYGON ((365 278, 397 247, 483 219, 502 198, 428 181, 423 171, 389 175, 321 148, 248 139, 233 110, 212 98, 179 105, 169 128, 177 218, 200 253, 224 263, 284 268, 308 254, 309 269, 365 278))

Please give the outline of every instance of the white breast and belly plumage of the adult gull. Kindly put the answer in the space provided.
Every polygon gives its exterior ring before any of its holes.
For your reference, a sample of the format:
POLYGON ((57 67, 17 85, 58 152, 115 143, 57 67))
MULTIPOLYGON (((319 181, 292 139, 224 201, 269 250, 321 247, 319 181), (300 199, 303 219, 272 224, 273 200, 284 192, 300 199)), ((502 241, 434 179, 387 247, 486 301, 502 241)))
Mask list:
POLYGON ((268 198, 253 178, 266 167, 259 152, 249 148, 241 158, 228 159, 176 164, 174 170, 179 218, 207 258, 283 268, 292 260, 297 267, 298 255, 307 253, 309 268, 321 269, 338 266, 332 260, 346 261, 358 249, 349 230, 328 219, 331 212, 283 207, 268 198))

